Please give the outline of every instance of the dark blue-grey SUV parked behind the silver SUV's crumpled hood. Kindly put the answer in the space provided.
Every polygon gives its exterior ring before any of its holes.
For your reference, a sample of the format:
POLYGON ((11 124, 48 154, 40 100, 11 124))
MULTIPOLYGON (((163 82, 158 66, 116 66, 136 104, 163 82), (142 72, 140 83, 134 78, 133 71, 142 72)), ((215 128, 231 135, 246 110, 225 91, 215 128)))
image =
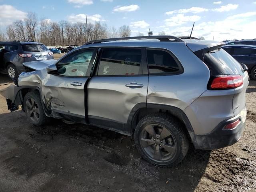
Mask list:
POLYGON ((10 78, 24 71, 23 63, 53 59, 52 52, 38 42, 0 42, 0 71, 7 72, 10 78))

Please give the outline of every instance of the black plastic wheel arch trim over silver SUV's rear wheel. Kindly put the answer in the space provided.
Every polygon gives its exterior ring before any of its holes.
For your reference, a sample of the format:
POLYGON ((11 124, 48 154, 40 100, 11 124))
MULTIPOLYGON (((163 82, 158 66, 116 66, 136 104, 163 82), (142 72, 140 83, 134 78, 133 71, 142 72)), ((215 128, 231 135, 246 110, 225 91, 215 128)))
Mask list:
POLYGON ((191 138, 190 135, 194 133, 194 130, 186 114, 180 108, 164 104, 136 104, 136 106, 134 106, 130 112, 127 126, 124 128, 125 131, 129 131, 130 133, 134 134, 134 130, 138 122, 146 115, 156 112, 167 113, 170 116, 177 118, 182 124, 184 124, 184 127, 186 128, 184 131, 189 135, 189 138, 191 138))

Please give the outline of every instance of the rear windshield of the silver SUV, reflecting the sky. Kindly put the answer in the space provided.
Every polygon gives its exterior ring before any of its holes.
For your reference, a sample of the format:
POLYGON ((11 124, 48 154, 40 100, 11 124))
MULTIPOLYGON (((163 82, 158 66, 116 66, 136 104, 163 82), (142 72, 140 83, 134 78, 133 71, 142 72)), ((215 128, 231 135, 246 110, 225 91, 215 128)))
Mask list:
POLYGON ((204 63, 212 75, 242 74, 242 66, 222 48, 204 54, 204 63))

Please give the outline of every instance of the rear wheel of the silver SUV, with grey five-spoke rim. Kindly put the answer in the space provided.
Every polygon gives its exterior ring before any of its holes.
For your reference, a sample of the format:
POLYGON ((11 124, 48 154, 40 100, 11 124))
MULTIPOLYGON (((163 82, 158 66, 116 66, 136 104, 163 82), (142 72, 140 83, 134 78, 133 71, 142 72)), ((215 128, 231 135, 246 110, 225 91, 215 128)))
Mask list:
POLYGON ((160 167, 179 164, 189 148, 183 125, 168 114, 150 114, 135 129, 134 141, 142 158, 160 167))

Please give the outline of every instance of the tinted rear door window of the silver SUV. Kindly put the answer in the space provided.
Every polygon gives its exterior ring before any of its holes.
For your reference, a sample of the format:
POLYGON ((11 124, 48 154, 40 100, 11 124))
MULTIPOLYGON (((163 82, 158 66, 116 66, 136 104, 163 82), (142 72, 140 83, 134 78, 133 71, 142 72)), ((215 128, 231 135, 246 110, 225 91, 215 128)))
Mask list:
POLYGON ((141 49, 103 49, 98 75, 138 75, 142 60, 141 49))

